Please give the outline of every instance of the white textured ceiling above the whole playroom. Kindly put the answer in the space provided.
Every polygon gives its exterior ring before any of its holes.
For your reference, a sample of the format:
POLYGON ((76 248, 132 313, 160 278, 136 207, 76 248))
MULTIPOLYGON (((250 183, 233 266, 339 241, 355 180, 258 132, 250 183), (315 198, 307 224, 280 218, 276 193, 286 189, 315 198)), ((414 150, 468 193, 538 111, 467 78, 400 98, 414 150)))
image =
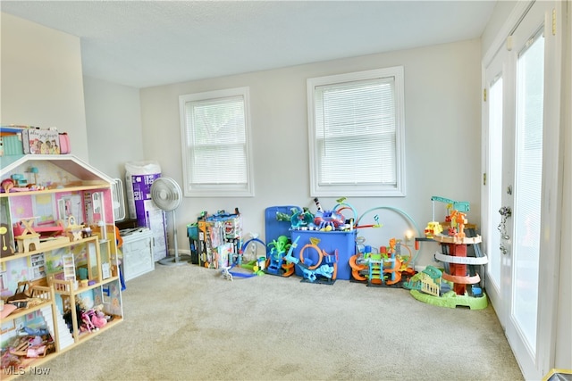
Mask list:
POLYGON ((494 1, 5 1, 80 37, 83 72, 131 87, 480 37, 494 1))

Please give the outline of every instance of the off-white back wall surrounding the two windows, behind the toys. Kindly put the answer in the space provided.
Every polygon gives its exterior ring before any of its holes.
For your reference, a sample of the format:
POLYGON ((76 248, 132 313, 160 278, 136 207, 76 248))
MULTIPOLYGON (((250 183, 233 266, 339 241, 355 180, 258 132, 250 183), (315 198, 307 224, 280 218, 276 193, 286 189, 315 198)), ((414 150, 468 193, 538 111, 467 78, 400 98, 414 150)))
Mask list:
MULTIPOLYGON (((306 81, 308 78, 403 65, 407 150, 406 197, 350 198, 358 214, 391 206, 405 211, 423 230, 432 219, 432 195, 471 203, 469 222, 480 219, 480 40, 373 54, 331 62, 253 72, 142 89, 146 160, 182 183, 179 95, 230 87, 250 87, 254 145, 253 198, 186 198, 177 211, 180 248, 188 247, 186 225, 199 211, 243 213, 244 228, 264 238, 266 207, 315 205, 309 195, 306 81)), ((376 155, 372 152, 372 160, 376 155)), ((343 196, 343 195, 340 195, 343 196)), ((321 199, 325 209, 335 198, 321 199)), ((443 219, 445 205, 437 206, 443 219)), ((367 244, 403 238, 408 223, 397 213, 378 211, 383 228, 363 230, 367 244)), ((370 213, 364 223, 373 223, 370 213)), ((436 245, 424 244, 420 262, 430 262, 436 245)))

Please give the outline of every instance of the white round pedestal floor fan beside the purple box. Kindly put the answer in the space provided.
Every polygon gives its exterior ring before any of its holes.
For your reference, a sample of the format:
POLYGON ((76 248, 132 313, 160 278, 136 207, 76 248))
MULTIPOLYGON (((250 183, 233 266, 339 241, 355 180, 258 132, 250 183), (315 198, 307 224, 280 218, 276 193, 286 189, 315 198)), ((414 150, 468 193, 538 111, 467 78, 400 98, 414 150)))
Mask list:
POLYGON ((175 210, 181 205, 182 192, 181 186, 172 178, 156 178, 151 186, 151 200, 162 211, 172 212, 172 242, 174 243, 174 255, 168 255, 159 263, 162 265, 182 265, 188 264, 190 255, 179 255, 177 246, 177 220, 175 219, 175 210))

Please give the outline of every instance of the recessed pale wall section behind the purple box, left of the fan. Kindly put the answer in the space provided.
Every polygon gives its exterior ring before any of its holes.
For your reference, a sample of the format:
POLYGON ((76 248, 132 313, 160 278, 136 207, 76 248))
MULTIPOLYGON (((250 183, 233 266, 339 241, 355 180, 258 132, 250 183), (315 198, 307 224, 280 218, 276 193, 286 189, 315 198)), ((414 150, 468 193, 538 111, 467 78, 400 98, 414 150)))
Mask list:
POLYGON ((125 174, 125 162, 142 161, 139 88, 83 77, 89 162, 112 178, 125 174))

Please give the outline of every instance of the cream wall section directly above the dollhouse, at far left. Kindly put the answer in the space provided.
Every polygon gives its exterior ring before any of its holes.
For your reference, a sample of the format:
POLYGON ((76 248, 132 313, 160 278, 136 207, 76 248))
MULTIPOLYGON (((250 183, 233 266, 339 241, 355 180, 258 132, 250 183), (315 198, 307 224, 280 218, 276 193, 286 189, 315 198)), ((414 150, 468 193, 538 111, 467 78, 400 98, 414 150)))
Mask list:
POLYGON ((88 161, 80 38, 2 13, 3 125, 57 127, 88 161))

